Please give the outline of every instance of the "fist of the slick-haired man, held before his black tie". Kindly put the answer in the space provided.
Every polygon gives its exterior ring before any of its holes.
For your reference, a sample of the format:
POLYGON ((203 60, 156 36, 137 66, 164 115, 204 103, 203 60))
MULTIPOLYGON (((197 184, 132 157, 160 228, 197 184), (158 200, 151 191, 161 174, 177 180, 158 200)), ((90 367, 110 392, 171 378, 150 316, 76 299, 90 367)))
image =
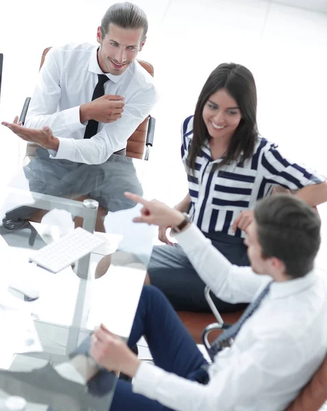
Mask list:
POLYGON ((90 103, 82 104, 79 108, 79 118, 81 123, 89 120, 96 120, 99 123, 113 123, 122 116, 124 105, 124 97, 104 95, 90 103))

